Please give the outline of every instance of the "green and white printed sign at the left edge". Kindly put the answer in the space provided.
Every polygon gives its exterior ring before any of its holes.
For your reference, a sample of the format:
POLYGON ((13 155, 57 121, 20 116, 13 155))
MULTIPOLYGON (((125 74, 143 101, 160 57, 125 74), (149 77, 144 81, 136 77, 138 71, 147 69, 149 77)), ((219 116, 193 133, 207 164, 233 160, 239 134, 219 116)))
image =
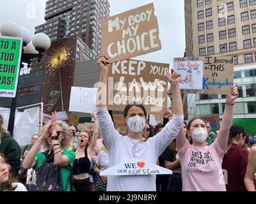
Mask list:
POLYGON ((22 38, 0 36, 0 97, 15 98, 22 38))

